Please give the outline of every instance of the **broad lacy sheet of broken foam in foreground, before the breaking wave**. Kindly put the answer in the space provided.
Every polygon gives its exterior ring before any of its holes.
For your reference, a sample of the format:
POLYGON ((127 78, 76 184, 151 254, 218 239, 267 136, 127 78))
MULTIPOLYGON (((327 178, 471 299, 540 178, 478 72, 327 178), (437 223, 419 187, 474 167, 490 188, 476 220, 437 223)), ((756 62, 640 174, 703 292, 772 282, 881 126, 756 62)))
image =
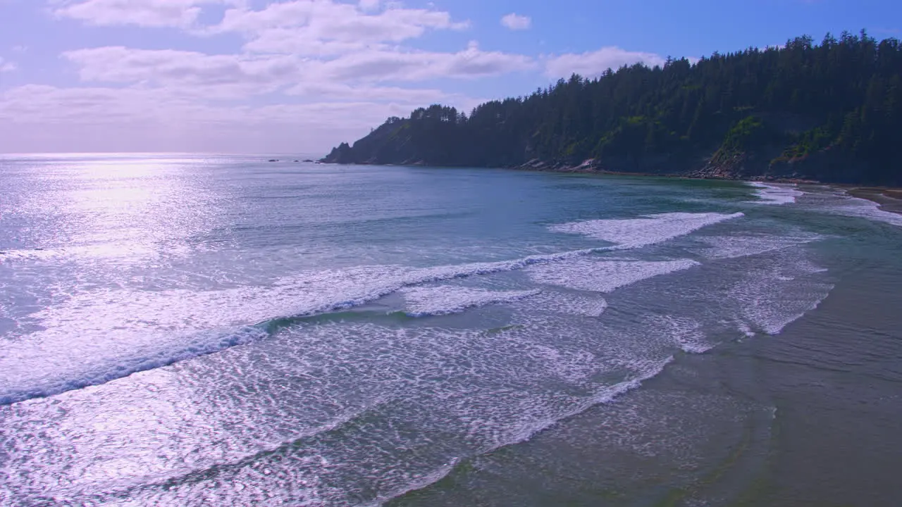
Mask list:
MULTIPOLYGON (((266 492, 284 500, 284 486, 299 484, 305 502, 346 505, 349 495, 378 481, 383 487, 371 488, 378 504, 439 479, 462 457, 531 438, 612 401, 671 360, 648 344, 620 350, 645 333, 658 336, 657 327, 621 340, 612 334, 601 347, 594 338, 558 344, 531 328, 485 335, 355 322, 295 331, 256 352, 232 349, 178 373, 145 373, 71 392, 59 404, 29 402, 17 411, 21 416, 5 419, 22 449, 15 466, 52 471, 42 476, 52 476, 58 498, 71 503, 84 492, 105 492, 97 501, 127 492, 141 504, 193 504, 215 486, 220 502, 250 505, 266 492), (611 376, 603 380, 599 373, 611 376), (228 394, 245 389, 254 395, 228 394), (103 425, 90 424, 97 421, 97 401, 115 407, 103 425), (32 438, 28 423, 41 415, 51 418, 51 429, 32 438), (400 421, 410 430, 399 432, 400 421), (446 455, 449 447, 433 439, 437 431, 459 454, 446 455), (52 452, 71 438, 78 438, 76 452, 52 452), (112 466, 119 456, 101 451, 122 441, 134 462, 146 466, 112 466), (380 452, 372 452, 373 442, 380 452), (419 450, 411 455, 410 448, 419 450), (216 474, 203 473, 211 468, 216 474), (191 480, 182 480, 186 474, 191 480), (171 487, 131 487, 163 482, 171 487)), ((35 497, 45 484, 14 481, 23 488, 37 484, 35 497)), ((301 492, 291 492, 297 501, 301 492)))

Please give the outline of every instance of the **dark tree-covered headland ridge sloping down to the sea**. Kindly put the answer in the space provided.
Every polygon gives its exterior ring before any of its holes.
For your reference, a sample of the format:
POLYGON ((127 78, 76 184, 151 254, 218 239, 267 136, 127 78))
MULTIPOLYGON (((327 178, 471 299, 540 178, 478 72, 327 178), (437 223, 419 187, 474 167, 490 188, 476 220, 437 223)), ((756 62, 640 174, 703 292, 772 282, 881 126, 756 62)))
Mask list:
POLYGON ((864 31, 578 75, 390 118, 325 161, 902 184, 902 46, 864 31), (584 161, 592 159, 587 165, 584 161))

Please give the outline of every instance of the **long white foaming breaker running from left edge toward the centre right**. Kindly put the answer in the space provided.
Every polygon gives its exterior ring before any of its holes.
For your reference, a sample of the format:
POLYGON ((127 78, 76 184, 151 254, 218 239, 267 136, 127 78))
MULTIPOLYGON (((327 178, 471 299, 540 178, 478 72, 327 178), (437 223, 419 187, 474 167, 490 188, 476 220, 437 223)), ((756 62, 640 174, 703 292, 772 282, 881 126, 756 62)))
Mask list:
POLYGON ((255 324, 275 318, 347 309, 411 285, 519 270, 603 250, 419 269, 365 266, 306 272, 272 286, 230 290, 83 293, 32 314, 43 331, 0 345, 0 404, 106 383, 243 345, 266 335, 265 327, 255 324))

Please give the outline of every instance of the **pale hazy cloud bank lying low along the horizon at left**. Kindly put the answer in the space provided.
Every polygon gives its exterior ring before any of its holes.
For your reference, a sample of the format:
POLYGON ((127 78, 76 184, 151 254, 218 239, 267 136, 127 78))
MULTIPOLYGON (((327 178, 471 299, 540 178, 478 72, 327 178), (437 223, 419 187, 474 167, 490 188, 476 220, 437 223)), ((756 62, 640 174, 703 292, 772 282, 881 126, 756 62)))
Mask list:
MULTIPOLYGON (((467 103, 472 105, 472 103, 467 103)), ((0 93, 0 152, 325 152, 415 106, 397 102, 211 105, 165 88, 0 93), (64 106, 63 106, 64 105, 64 106)))

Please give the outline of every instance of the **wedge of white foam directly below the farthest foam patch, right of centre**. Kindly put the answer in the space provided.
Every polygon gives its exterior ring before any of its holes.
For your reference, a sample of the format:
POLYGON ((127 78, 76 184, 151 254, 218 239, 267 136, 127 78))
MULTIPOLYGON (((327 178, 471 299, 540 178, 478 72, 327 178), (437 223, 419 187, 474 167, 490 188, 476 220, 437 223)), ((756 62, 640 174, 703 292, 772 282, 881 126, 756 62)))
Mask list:
POLYGON ((539 283, 568 289, 611 292, 654 276, 686 270, 699 263, 690 259, 676 261, 609 261, 575 259, 554 265, 530 267, 529 276, 539 283))

